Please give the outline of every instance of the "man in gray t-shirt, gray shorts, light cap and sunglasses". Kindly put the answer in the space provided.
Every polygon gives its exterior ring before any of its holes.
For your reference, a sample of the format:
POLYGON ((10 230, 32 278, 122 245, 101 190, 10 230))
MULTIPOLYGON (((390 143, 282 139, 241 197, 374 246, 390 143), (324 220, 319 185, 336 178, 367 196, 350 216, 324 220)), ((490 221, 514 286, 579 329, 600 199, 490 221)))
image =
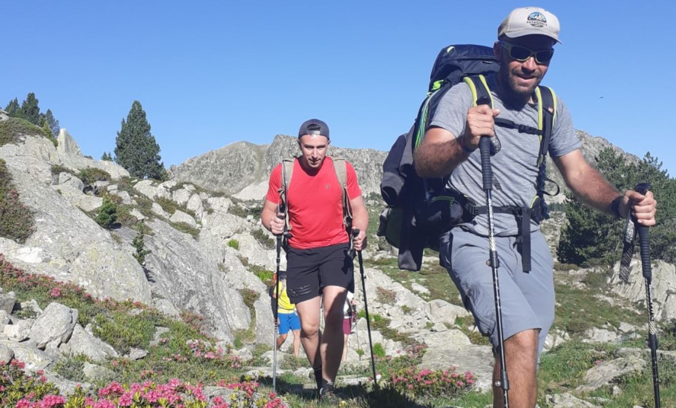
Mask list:
MULTIPOLYGON (((559 22, 554 14, 539 7, 514 9, 498 28, 493 51, 500 61, 497 74, 487 76, 493 108, 473 106, 470 87, 461 83, 446 93, 416 149, 414 163, 421 177, 450 174, 448 188, 476 203, 484 200, 479 138, 498 136, 502 148, 491 157, 493 208, 530 208, 536 197, 535 181, 539 136, 506 128, 498 119, 538 128, 535 91, 546 74, 558 43, 559 22), (500 125, 500 126, 496 126, 500 125)), ((548 150, 566 184, 587 205, 617 218, 635 214, 639 224, 655 224, 656 202, 648 191, 620 193, 585 161, 573 129, 571 114, 556 97, 556 118, 548 150)), ((545 107, 548 108, 548 107, 545 107)), ((481 204, 478 204, 481 205, 481 204)), ((477 206, 478 206, 477 205, 477 206)), ((484 204, 485 205, 485 204, 484 204)), ((494 210, 496 246, 499 257, 500 300, 504 328, 504 353, 510 380, 510 405, 533 408, 537 397, 537 364, 547 332, 554 321, 553 261, 550 249, 536 222, 525 224, 530 232, 529 271, 522 263, 521 218, 494 210)), ((521 213, 529 216, 529 211, 521 213)), ((487 217, 483 215, 454 226, 441 240, 440 260, 454 280, 466 307, 493 349, 498 345, 491 267, 487 265, 487 217)), ((496 359, 494 380, 500 372, 496 359)), ((493 407, 503 407, 500 388, 493 388, 493 407)))

